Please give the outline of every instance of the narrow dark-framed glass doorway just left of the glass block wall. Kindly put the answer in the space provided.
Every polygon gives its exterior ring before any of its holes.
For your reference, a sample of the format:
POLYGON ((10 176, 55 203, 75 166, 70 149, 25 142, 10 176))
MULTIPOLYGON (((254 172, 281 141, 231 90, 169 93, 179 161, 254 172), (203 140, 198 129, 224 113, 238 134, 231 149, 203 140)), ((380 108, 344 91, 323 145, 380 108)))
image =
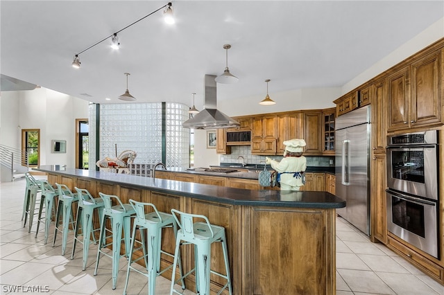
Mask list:
POLYGON ((89 122, 76 119, 76 168, 87 170, 89 167, 89 122))

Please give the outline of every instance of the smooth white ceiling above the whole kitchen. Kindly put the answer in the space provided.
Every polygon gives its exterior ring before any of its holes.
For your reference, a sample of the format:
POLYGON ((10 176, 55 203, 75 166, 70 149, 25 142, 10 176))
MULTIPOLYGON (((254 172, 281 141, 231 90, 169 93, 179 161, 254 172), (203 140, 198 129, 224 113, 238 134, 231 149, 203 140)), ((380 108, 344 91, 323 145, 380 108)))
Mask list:
MULTIPOLYGON (((1 1, 1 73, 98 103, 184 102, 203 96, 205 74, 228 66, 236 84, 218 100, 270 91, 341 87, 444 16, 444 1, 1 1), (82 93, 87 93, 85 96, 82 93), (110 100, 105 100, 110 98, 110 100)), ((200 99, 198 99, 200 98, 200 99)), ((256 102, 255 102, 256 103, 256 102)))

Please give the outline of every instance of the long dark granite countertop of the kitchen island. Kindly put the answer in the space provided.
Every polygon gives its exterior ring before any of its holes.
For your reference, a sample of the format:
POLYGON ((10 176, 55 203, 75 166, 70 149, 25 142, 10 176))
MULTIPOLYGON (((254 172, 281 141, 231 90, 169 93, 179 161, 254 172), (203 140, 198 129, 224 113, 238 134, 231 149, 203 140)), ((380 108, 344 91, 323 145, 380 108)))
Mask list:
MULTIPOLYGON (((66 168, 58 165, 40 166, 33 170, 56 175, 96 179, 103 183, 119 184, 133 188, 153 190, 158 193, 170 193, 195 199, 205 199, 221 204, 274 206, 293 208, 343 208, 345 201, 327 192, 285 191, 285 190, 244 190, 224 186, 210 186, 168 179, 153 179, 135 175, 117 174, 66 168)), ((250 174, 248 172, 244 172, 250 174)))

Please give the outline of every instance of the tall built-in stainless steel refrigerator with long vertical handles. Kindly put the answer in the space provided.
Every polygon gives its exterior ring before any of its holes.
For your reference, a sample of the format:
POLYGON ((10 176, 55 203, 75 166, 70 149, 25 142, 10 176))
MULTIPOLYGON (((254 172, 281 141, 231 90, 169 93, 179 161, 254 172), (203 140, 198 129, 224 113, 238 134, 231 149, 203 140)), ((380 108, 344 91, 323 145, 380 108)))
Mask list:
POLYGON ((336 195, 345 208, 336 213, 370 235, 370 106, 336 118, 336 195))

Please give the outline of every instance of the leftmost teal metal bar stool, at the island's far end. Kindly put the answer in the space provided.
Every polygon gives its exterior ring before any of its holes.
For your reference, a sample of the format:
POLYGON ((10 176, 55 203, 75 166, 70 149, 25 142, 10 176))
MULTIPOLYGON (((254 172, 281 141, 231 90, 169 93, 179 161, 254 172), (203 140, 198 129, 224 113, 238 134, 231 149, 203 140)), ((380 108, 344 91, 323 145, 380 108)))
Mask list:
MULTIPOLYGON (((25 173, 26 189, 25 198, 23 202, 22 220, 24 220, 23 227, 26 226, 26 221, 29 219, 28 233, 31 233, 31 227, 33 226, 33 218, 35 215, 35 204, 37 203, 37 193, 40 193, 41 180, 37 180, 29 172, 25 173)), ((41 204, 39 204, 40 210, 41 204)))

